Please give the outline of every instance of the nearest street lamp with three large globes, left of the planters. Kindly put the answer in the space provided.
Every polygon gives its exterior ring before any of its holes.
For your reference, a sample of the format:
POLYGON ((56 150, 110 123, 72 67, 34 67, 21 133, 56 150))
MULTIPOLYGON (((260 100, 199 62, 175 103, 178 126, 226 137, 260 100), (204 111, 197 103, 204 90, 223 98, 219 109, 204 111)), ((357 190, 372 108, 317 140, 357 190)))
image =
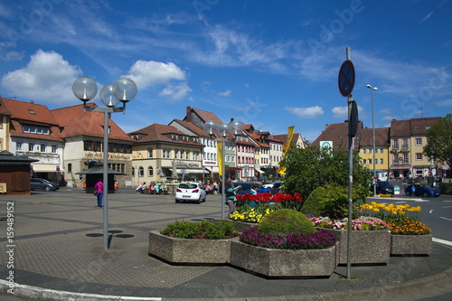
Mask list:
POLYGON ((82 76, 72 84, 75 97, 83 101, 84 111, 104 113, 104 146, 103 146, 103 183, 104 183, 104 250, 108 250, 108 118, 111 113, 123 112, 126 114, 126 103, 137 96, 137 85, 133 80, 121 78, 113 85, 105 86, 100 90, 99 98, 107 108, 87 106, 87 101, 94 99, 98 93, 95 80, 82 76), (122 108, 115 108, 122 102, 122 108))

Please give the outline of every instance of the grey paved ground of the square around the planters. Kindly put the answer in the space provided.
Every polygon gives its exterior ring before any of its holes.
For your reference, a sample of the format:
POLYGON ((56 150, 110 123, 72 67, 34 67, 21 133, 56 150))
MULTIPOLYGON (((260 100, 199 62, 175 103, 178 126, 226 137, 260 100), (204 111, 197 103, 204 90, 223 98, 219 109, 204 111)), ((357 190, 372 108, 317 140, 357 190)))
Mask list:
MULTIPOLYGON (((268 279, 230 266, 175 266, 148 256, 150 230, 175 220, 219 219, 220 196, 209 195, 207 202, 196 204, 130 189, 109 194, 107 251, 103 209, 91 194, 62 188, 0 197, 0 217, 5 217, 7 203, 14 202, 14 269, 7 268, 6 221, 0 221, 0 275, 5 280, 14 270, 17 285, 165 300, 452 299, 452 249, 436 243, 429 257, 393 257, 387 266, 352 267, 353 280, 344 279, 346 267, 336 268, 329 278, 268 279)), ((15 300, 6 288, 4 283, 0 299, 15 300)))

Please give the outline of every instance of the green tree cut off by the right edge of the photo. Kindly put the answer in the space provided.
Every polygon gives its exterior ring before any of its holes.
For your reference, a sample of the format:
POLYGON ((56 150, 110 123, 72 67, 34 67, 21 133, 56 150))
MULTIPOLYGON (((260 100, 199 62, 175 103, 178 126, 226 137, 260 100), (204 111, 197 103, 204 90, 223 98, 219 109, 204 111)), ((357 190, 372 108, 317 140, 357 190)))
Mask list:
POLYGON ((447 114, 427 131, 427 145, 424 146, 424 155, 433 156, 437 162, 452 161, 452 114, 447 114))

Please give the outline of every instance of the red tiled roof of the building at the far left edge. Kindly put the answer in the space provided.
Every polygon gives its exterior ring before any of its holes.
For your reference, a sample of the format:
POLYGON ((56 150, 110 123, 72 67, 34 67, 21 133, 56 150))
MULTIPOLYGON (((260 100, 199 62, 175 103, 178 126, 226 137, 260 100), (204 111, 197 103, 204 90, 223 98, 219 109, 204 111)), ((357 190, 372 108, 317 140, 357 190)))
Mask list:
POLYGON ((3 99, 3 101, 6 109, 12 114, 12 119, 21 120, 21 122, 28 121, 32 124, 58 126, 57 120, 53 118, 46 106, 13 99, 3 99))

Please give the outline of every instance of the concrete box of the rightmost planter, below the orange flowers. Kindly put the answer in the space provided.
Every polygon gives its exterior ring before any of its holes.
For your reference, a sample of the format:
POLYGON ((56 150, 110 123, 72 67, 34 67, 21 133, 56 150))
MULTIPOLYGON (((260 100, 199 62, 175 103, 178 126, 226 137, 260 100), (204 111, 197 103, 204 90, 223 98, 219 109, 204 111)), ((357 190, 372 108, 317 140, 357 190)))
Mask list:
POLYGON ((432 236, 391 234, 391 255, 428 255, 431 253, 432 236))

